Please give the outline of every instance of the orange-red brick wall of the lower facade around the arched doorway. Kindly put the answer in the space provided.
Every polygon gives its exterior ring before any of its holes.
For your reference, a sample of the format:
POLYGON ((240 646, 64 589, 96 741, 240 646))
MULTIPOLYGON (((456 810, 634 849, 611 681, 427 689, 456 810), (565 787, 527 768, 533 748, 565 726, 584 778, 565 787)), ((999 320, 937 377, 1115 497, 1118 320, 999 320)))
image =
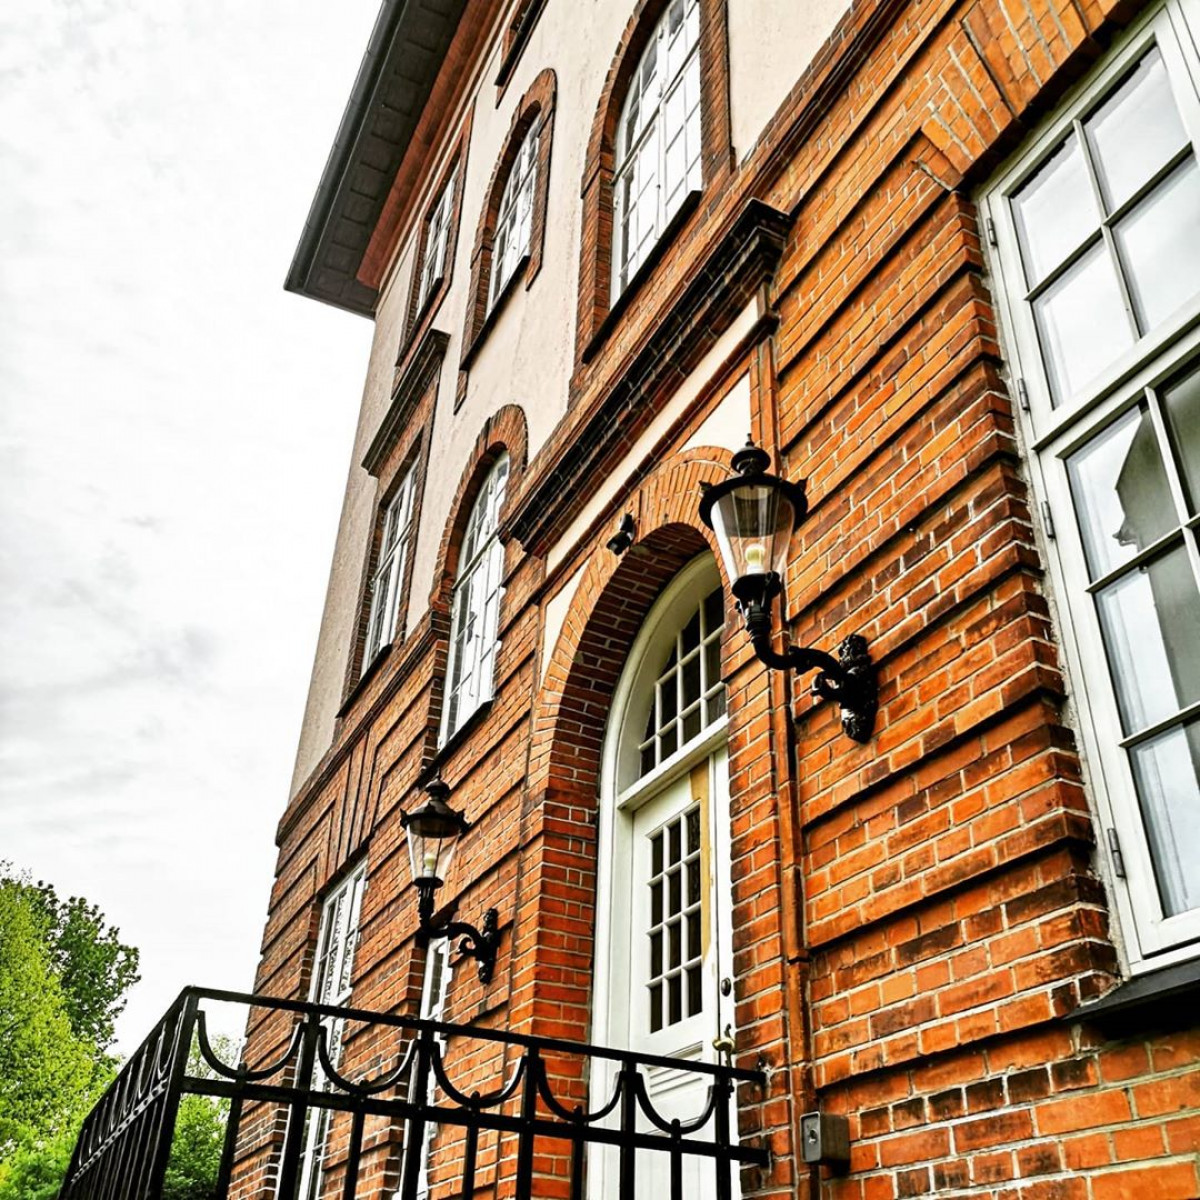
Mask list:
MULTIPOLYGON (((581 361, 571 413, 529 464, 570 443, 748 197, 792 216, 766 298, 774 332, 634 464, 619 510, 553 574, 510 541, 496 701, 443 769, 476 823, 450 890, 468 918, 498 907, 503 931, 493 983, 460 972, 448 1019, 586 1037, 604 720, 654 596, 707 544, 696 486, 720 475, 719 452, 682 446, 750 371, 756 436, 809 480, 790 631, 821 647, 864 634, 881 708, 859 746, 797 680, 792 726, 786 680, 731 622, 738 1057, 770 1073, 767 1096, 742 1098, 740 1124, 774 1153, 746 1172, 748 1196, 1200 1195, 1195 1015, 1130 1020, 1121 1039, 1072 1020, 1120 968, 971 202, 1130 12, 854 5, 581 361), (650 553, 618 559, 604 540, 626 510, 650 553), (563 632, 542 646, 546 604, 581 569, 563 632), (850 1117, 848 1174, 797 1162, 798 1116, 817 1105, 850 1117)), ((557 120, 593 115, 560 102, 557 120)), ((521 440, 511 426, 484 440, 521 440)), ((523 457, 523 442, 509 448, 523 457)), ((521 486, 517 473, 510 509, 521 486)), ((366 850, 355 1003, 415 1003, 397 816, 434 752, 452 529, 431 614, 358 697, 281 826, 263 991, 302 992, 322 889, 366 850)), ((281 1036, 254 1031, 252 1051, 281 1036)), ((348 1054, 370 1051, 364 1033, 348 1054)), ((578 1079, 560 1086, 581 1094, 578 1079)), ((499 1194, 511 1153, 488 1148, 499 1194)), ((394 1162, 395 1134, 380 1133, 378 1154, 394 1162)), ((542 1165, 553 1175, 552 1156, 542 1165)))

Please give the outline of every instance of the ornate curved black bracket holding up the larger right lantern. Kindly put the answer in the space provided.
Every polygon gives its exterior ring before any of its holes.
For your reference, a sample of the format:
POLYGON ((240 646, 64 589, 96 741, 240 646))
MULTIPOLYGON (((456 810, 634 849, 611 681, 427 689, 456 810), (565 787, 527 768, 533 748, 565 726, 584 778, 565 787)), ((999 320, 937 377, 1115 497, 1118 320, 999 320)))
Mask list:
POLYGON ((762 596, 738 600, 746 632, 761 662, 776 671, 816 671, 812 695, 841 706, 841 727, 854 742, 870 742, 878 709, 875 664, 866 650, 866 638, 851 634, 838 647, 836 658, 824 650, 790 646, 780 653, 770 642, 770 601, 778 593, 768 586, 762 596))

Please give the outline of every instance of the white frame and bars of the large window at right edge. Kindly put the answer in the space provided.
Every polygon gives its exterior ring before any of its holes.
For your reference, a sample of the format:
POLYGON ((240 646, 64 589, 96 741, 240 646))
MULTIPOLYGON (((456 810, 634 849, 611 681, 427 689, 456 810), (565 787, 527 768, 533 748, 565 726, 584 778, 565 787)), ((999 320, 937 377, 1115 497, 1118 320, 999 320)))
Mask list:
MULTIPOLYGON (((1098 818, 1099 854, 1108 868, 1123 949, 1132 971, 1147 971, 1200 954, 1200 908, 1166 916, 1156 882, 1150 840, 1135 790, 1133 768, 1122 743, 1146 740, 1159 725, 1134 738, 1126 734, 1108 665, 1099 617, 1087 588, 1090 575, 1082 535, 1067 475, 1067 458, 1112 421, 1146 398, 1146 389, 1200 366, 1200 294, 1147 330, 1096 379, 1057 407, 1043 364, 1032 306, 1025 300, 1025 276, 1008 198, 1030 180, 1070 132, 1073 120, 1092 112, 1130 67, 1157 46, 1193 151, 1200 157, 1200 4, 1168 0, 1156 5, 1121 40, 1104 64, 1058 107, 1031 144, 1002 170, 980 198, 995 247, 989 264, 1001 317, 1001 336, 1021 398, 1018 427, 1034 496, 1042 502, 1043 551, 1051 599, 1066 655, 1070 700, 1078 714, 1084 764, 1098 818), (1111 834, 1109 833, 1111 830, 1111 834)), ((1170 469, 1168 467, 1168 469, 1170 469)), ((1182 504, 1182 496, 1175 497, 1182 504)), ((1200 575, 1192 522, 1184 545, 1200 575)), ((1182 712, 1192 714, 1192 706, 1182 712)), ((1176 714, 1168 722, 1182 726, 1176 714)))

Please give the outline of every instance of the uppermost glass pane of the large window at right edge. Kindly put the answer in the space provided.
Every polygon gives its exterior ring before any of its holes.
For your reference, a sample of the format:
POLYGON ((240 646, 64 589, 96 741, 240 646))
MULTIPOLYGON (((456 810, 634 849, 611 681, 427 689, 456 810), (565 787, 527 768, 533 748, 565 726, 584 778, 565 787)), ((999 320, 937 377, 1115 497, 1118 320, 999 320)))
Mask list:
POLYGON ((1109 209, 1115 209, 1187 143, 1157 49, 1138 64, 1084 128, 1109 209))

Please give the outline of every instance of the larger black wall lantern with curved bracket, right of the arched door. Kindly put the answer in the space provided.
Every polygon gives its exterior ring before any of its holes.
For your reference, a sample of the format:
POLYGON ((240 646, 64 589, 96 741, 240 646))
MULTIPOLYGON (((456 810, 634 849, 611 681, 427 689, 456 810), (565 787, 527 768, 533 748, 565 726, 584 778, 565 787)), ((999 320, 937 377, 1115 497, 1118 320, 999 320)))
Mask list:
POLYGON ((770 605, 784 589, 788 544, 809 503, 803 482, 768 475, 769 466, 770 455, 746 442, 733 456, 736 474, 704 491, 700 518, 716 534, 755 654, 776 670, 816 671, 812 691, 841 706, 847 737, 869 742, 878 701, 865 637, 852 634, 838 647, 836 658, 799 646, 780 654, 770 644, 770 605))

